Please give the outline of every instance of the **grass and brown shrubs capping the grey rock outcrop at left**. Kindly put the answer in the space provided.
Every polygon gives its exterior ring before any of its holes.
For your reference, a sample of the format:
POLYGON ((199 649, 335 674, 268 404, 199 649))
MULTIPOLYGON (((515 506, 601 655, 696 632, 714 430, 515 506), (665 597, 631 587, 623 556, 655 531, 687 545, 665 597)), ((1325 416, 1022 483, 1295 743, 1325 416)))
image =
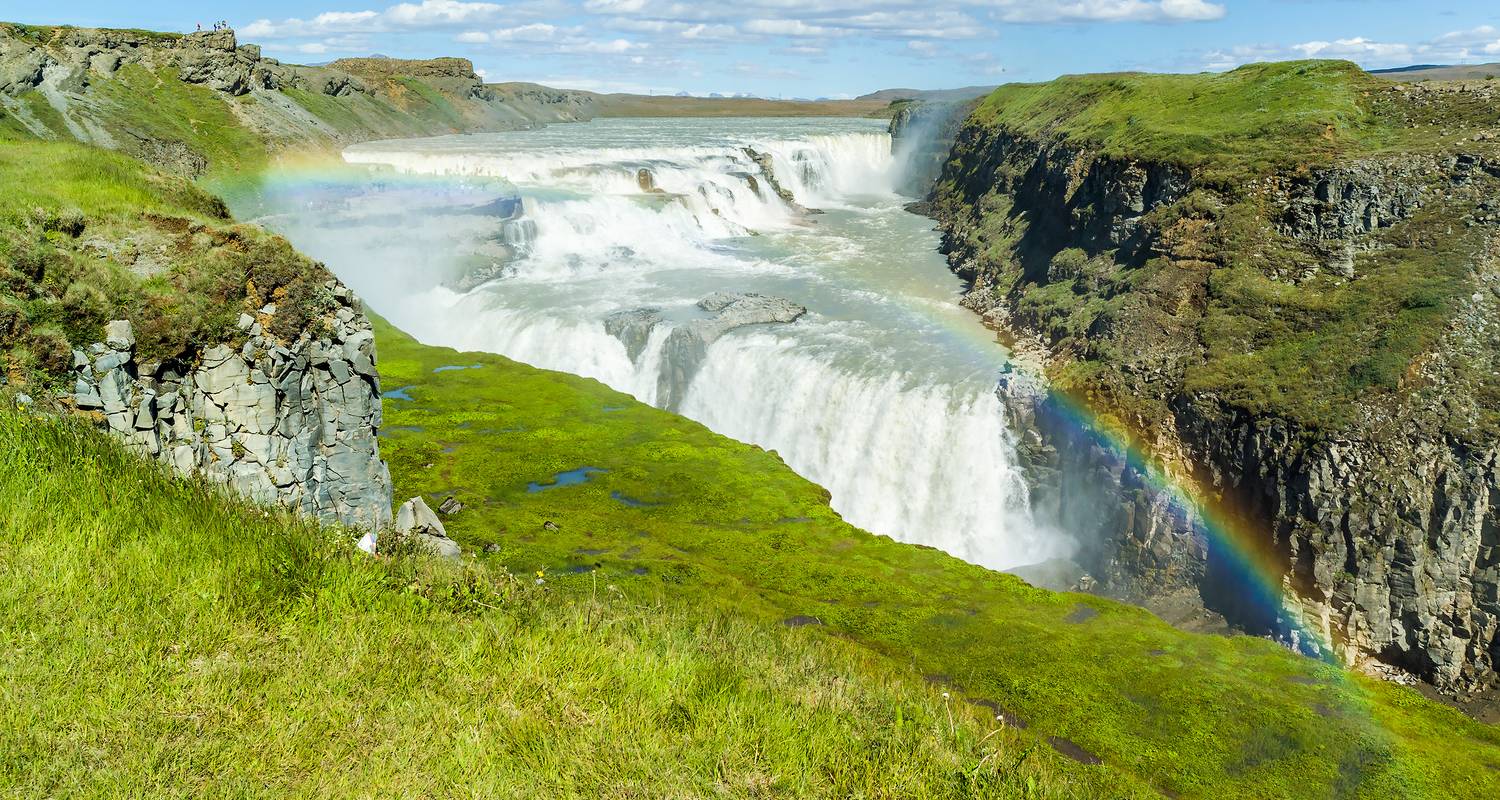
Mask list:
POLYGON ((237 225, 224 203, 136 159, 72 143, 0 149, 0 368, 50 384, 108 320, 135 324, 142 362, 232 341, 240 314, 274 303, 296 341, 327 305, 322 266, 237 225))

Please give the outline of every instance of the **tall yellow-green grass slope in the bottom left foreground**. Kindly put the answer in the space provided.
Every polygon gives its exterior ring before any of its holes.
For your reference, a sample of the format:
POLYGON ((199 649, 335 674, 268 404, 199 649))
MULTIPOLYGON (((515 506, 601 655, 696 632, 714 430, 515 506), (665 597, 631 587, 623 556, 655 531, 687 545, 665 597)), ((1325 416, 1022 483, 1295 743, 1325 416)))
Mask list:
POLYGON ((0 410, 0 797, 1098 797, 909 669, 375 560, 0 410))

